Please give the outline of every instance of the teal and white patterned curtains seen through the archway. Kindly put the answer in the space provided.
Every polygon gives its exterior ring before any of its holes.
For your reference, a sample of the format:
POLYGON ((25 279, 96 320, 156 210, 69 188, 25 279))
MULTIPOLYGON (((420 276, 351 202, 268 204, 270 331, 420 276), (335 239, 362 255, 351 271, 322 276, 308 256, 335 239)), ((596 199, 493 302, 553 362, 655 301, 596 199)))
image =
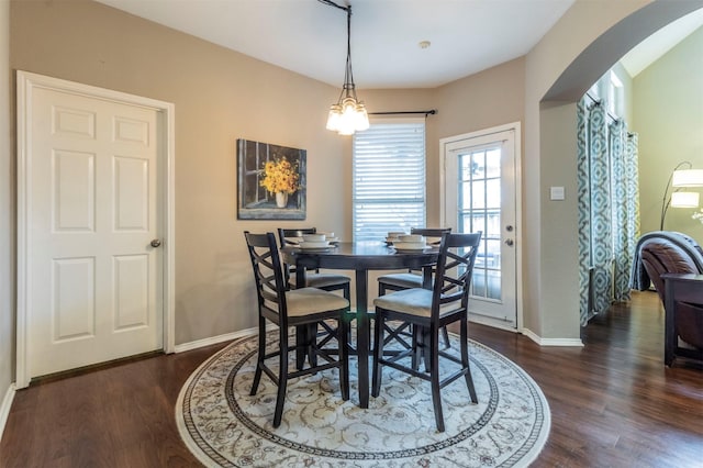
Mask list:
POLYGON ((580 321, 629 299, 629 271, 639 237, 637 136, 622 121, 607 124, 605 107, 578 112, 580 321))

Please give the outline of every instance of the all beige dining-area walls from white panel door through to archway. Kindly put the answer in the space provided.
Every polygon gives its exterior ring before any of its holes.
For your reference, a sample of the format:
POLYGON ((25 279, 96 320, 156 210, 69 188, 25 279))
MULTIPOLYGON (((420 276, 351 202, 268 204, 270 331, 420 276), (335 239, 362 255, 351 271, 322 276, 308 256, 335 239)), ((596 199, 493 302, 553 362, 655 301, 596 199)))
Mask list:
MULTIPOLYGON (((579 0, 524 58, 436 90, 359 90, 371 112, 439 111, 427 120, 429 223, 438 222, 438 140, 523 121, 525 325, 537 337, 579 335, 572 101, 542 101, 585 91, 626 52, 616 42, 593 60, 592 43, 648 3, 579 0), (567 201, 547 199, 553 185, 567 187, 567 201)), ((350 238, 349 138, 324 131, 337 88, 90 1, 16 0, 10 21, 12 69, 176 104, 177 343, 254 325, 244 230, 314 224, 350 238), (237 137, 308 149, 305 222, 236 219, 237 137)), ((627 31, 647 35, 645 24, 627 31)))

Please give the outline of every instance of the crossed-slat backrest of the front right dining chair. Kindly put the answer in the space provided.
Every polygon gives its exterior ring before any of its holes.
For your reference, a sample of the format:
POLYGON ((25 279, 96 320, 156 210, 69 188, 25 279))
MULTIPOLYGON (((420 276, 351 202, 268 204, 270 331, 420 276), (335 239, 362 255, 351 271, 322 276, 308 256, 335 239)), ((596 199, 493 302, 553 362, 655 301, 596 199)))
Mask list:
POLYGON ((439 258, 435 271, 432 315, 439 316, 439 310, 457 303, 466 308, 473 274, 473 265, 481 244, 482 233, 444 233, 439 243, 439 258))

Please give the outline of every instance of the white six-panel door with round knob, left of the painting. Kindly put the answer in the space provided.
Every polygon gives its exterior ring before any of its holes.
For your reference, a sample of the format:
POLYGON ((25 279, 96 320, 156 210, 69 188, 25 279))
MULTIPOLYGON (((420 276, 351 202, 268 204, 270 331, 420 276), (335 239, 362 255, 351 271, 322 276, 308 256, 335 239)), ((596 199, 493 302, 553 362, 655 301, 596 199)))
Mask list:
POLYGON ((29 378, 163 349, 158 124, 155 109, 34 88, 29 378))

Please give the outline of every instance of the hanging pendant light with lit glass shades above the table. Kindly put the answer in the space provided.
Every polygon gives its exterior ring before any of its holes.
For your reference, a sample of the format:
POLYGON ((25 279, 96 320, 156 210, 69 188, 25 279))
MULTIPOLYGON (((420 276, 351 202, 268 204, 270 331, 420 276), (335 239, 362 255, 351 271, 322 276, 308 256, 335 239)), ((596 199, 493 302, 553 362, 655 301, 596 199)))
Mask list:
POLYGON ((352 71, 352 5, 342 7, 332 0, 319 0, 324 4, 336 7, 347 12, 347 66, 344 71, 344 85, 336 104, 330 107, 327 130, 339 135, 354 135, 369 127, 369 115, 364 102, 356 97, 354 73, 352 71))

